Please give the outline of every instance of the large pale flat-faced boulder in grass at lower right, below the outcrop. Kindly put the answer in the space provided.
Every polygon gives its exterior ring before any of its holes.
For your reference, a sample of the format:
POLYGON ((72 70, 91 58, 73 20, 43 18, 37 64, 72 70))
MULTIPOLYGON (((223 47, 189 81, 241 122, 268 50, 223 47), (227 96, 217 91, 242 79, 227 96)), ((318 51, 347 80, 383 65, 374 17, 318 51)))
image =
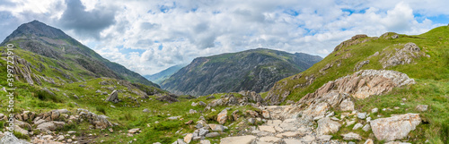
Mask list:
POLYGON ((409 131, 415 130, 419 123, 419 114, 400 114, 371 121, 371 129, 377 140, 402 140, 407 137, 409 131))

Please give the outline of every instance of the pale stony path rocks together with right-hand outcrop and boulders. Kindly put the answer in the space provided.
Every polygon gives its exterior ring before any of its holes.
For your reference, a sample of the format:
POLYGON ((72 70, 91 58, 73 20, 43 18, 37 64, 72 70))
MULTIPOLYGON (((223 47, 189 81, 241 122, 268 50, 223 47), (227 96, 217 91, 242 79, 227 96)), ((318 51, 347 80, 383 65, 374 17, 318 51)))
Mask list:
MULTIPOLYGON (((259 106, 260 114, 251 114, 262 122, 257 127, 250 126, 248 132, 239 133, 240 136, 226 137, 220 140, 221 144, 237 143, 355 143, 350 140, 365 141, 365 144, 374 143, 374 140, 363 140, 357 130, 373 132, 377 140, 388 143, 407 143, 409 131, 416 129, 421 123, 419 114, 398 114, 391 117, 383 117, 378 114, 379 108, 369 112, 357 112, 354 110, 356 99, 382 95, 393 88, 414 84, 413 79, 401 72, 363 70, 353 75, 330 81, 320 89, 303 97, 300 101, 290 106, 259 106), (339 117, 336 112, 342 112, 339 117), (353 131, 339 132, 343 127, 353 131), (332 134, 340 133, 343 140, 332 140, 332 134)), ((225 99, 220 99, 225 100, 225 99)), ((399 108, 399 107, 395 107, 399 108)), ((418 106, 419 111, 427 111, 427 106, 418 106)), ((382 108, 383 111, 391 110, 382 108)), ((225 123, 222 118, 226 115, 224 110, 218 114, 217 122, 225 123)), ((254 121, 248 119, 248 123, 254 121)), ((241 123, 239 123, 241 124, 241 123)), ((198 130, 189 133, 184 140, 173 143, 189 143, 191 140, 200 140, 199 143, 211 143, 204 140, 211 135, 219 135, 225 126, 208 124, 198 121, 198 130), (198 126, 200 125, 200 126, 198 126), (220 127, 218 130, 217 127, 220 127)))

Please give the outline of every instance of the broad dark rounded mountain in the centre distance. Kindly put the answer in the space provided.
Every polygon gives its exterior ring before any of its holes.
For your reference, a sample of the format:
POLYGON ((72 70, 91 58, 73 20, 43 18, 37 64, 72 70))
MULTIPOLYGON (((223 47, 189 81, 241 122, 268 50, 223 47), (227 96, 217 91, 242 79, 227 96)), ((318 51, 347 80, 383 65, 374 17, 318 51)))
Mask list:
POLYGON ((198 57, 161 83, 174 94, 202 96, 219 92, 269 90, 274 82, 302 72, 320 56, 266 48, 198 57))

